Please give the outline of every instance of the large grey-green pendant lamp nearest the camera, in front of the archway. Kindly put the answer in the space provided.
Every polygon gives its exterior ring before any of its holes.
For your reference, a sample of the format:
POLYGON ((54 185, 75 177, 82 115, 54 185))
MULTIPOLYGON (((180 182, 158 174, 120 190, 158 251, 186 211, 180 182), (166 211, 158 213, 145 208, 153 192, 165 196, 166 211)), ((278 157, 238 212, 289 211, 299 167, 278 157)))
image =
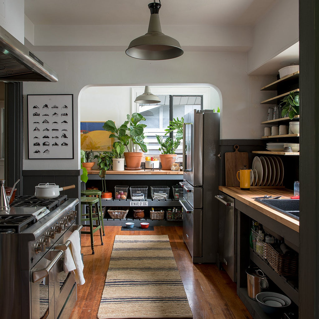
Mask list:
POLYGON ((168 60, 181 56, 184 51, 174 38, 162 33, 159 22, 160 1, 148 5, 151 11, 148 32, 131 41, 125 53, 141 60, 168 60))

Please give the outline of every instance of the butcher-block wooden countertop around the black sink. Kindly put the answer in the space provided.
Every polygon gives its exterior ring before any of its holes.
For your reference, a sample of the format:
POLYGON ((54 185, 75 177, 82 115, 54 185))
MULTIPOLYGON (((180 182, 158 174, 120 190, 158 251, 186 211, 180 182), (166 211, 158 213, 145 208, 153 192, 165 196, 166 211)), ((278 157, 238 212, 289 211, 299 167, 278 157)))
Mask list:
POLYGON ((281 196, 281 198, 290 198, 293 191, 283 187, 251 187, 250 190, 241 190, 240 187, 219 186, 219 190, 242 203, 260 211, 279 223, 299 232, 299 220, 287 216, 268 206, 256 202, 252 197, 261 197, 264 195, 281 196))

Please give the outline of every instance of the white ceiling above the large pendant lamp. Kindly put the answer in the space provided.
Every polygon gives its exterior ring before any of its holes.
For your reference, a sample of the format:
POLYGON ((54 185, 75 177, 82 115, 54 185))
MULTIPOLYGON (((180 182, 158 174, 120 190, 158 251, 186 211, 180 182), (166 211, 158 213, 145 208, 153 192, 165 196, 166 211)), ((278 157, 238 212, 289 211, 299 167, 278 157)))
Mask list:
MULTIPOLYGON (((161 24, 168 26, 253 26, 275 1, 163 0, 159 16, 161 24)), ((34 25, 147 25, 150 2, 25 0, 25 14, 34 25)))

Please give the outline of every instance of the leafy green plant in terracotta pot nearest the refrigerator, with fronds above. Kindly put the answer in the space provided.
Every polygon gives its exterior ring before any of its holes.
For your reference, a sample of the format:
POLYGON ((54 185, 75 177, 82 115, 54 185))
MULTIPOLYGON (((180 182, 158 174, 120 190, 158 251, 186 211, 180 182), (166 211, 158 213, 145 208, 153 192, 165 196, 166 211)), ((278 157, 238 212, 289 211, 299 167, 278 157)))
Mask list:
POLYGON ((163 170, 171 170, 173 156, 177 156, 175 152, 178 146, 181 144, 181 140, 183 138, 183 124, 183 117, 181 119, 177 117, 176 119, 173 119, 173 121, 169 121, 169 125, 165 130, 165 135, 167 135, 170 132, 173 132, 174 130, 177 130, 175 134, 175 139, 173 137, 166 137, 166 139, 163 140, 163 136, 156 135, 156 139, 159 144, 159 151, 161 152, 161 154, 159 154, 159 158, 163 170))

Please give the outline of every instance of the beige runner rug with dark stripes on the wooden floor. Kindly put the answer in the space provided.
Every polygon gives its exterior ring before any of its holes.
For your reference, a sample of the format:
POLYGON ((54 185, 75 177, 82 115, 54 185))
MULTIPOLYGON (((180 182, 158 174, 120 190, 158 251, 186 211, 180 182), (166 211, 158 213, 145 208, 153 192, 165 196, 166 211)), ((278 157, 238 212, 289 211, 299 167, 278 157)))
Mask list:
POLYGON ((115 236, 98 318, 193 318, 167 235, 115 236))

